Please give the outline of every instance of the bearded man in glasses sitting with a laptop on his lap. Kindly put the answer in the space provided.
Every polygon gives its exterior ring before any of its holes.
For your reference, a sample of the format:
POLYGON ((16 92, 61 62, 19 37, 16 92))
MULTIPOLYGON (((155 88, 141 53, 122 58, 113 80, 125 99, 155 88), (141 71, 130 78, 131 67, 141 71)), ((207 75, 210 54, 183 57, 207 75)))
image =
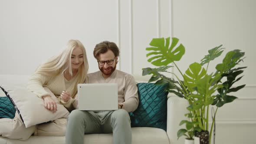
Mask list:
MULTIPOLYGON (((118 110, 79 111, 68 117, 66 144, 83 144, 84 134, 113 133, 113 144, 131 144, 131 121, 128 112, 138 107, 135 79, 119 70, 119 49, 113 42, 98 43, 93 51, 100 71, 88 74, 87 83, 118 83, 118 110)), ((74 107, 77 108, 77 100, 74 107)))

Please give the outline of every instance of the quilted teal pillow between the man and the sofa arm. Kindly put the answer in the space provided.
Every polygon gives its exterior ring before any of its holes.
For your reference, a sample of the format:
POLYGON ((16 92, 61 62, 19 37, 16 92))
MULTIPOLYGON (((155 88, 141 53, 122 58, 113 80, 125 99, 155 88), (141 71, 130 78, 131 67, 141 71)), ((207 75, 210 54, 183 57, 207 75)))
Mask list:
POLYGON ((167 95, 166 85, 138 83, 139 105, 130 112, 131 127, 153 127, 166 131, 167 95))

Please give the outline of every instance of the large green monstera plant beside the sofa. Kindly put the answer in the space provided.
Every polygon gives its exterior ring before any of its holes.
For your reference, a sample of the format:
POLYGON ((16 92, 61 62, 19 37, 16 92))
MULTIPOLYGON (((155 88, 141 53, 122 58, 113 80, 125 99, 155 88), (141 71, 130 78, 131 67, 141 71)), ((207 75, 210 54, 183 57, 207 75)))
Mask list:
MULTIPOLYGON (((222 45, 208 50, 209 54, 201 59, 201 62, 194 62, 189 65, 185 72, 176 65, 176 61, 181 60, 185 53, 185 48, 182 44, 177 45, 179 39, 170 37, 152 39, 149 44, 151 47, 146 48, 148 54, 148 62, 157 66, 156 68, 144 68, 142 75, 151 75, 148 82, 155 82, 156 85, 167 84, 166 91, 185 98, 189 106, 189 113, 185 116, 189 119, 181 121, 185 124, 185 129, 180 129, 177 136, 187 136, 187 139, 193 139, 195 133, 197 136, 203 137, 200 134, 208 132, 206 143, 210 143, 215 123, 215 116, 218 108, 226 103, 234 101, 237 97, 230 95, 230 92, 236 92, 245 85, 234 87, 233 84, 238 82, 243 76, 238 76, 243 73, 246 67, 236 66, 243 61, 244 52, 239 49, 232 50, 226 53, 222 63, 215 66, 215 72, 208 72, 210 61, 219 57, 224 48, 222 45), (171 65, 173 64, 173 65, 171 65), (181 74, 177 74, 168 70, 174 67, 181 74), (171 73, 174 78, 167 77, 165 74, 171 73), (210 127, 209 135, 209 106, 216 107, 213 122, 210 127), (200 133, 200 134, 199 134, 200 133)), ((204 136, 205 137, 205 136, 204 136)))

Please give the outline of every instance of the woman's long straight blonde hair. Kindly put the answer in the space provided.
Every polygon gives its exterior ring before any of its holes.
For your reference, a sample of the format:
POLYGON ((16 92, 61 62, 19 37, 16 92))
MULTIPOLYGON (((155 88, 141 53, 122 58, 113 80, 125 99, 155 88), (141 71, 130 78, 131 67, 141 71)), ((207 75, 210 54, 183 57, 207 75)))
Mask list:
POLYGON ((35 74, 41 74, 46 76, 57 76, 60 74, 64 74, 64 72, 67 70, 69 74, 72 75, 71 55, 73 49, 77 47, 82 49, 83 51, 83 65, 79 67, 76 73, 76 79, 71 85, 72 87, 74 87, 73 93, 71 93, 72 98, 75 97, 75 94, 77 92, 77 84, 84 83, 86 81, 86 76, 89 69, 85 47, 79 40, 69 40, 66 45, 66 49, 64 49, 59 56, 53 56, 46 63, 40 65, 35 72, 35 74))

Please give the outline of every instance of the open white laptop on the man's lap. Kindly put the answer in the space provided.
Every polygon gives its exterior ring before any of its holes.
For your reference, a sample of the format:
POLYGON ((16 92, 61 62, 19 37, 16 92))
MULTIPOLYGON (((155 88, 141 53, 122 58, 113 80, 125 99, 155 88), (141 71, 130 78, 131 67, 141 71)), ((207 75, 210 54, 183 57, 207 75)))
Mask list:
POLYGON ((111 111, 118 109, 118 84, 78 84, 78 109, 83 111, 111 111))

